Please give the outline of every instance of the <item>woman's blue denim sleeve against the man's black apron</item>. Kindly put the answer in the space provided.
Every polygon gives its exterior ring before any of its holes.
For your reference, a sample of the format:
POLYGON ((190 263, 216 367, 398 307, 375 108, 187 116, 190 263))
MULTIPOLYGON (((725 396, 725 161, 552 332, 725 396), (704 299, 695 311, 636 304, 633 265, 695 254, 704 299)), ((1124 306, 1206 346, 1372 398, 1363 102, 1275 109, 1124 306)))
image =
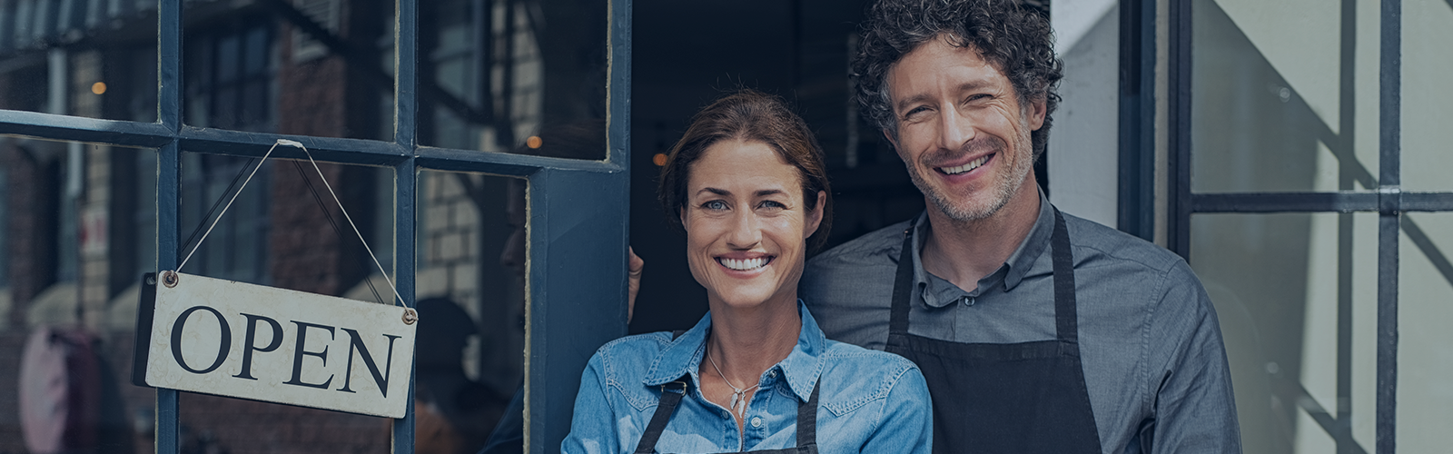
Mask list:
POLYGON ((933 405, 928 383, 917 367, 904 371, 888 391, 881 422, 860 453, 933 453, 933 405))

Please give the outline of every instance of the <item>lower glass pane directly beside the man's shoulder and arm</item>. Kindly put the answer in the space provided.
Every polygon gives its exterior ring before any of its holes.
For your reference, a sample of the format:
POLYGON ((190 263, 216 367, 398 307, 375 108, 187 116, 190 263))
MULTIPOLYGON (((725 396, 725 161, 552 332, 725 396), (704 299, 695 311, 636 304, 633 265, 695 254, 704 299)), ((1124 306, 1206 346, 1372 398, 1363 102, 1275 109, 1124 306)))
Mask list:
POLYGON ((1199 214, 1191 266, 1221 319, 1245 451, 1370 453, 1377 215, 1199 214))

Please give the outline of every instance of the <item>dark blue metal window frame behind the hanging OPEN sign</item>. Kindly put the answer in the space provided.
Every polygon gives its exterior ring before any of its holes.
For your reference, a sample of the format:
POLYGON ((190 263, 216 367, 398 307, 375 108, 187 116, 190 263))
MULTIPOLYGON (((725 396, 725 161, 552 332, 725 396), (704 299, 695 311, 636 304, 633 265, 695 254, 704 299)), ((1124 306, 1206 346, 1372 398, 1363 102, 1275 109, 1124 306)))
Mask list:
MULTIPOLYGON (((631 9, 609 3, 607 140, 604 160, 423 147, 417 143, 418 0, 398 0, 394 28, 394 138, 386 141, 279 135, 198 128, 183 124, 185 0, 157 1, 157 122, 94 119, 0 111, 0 134, 80 141, 157 151, 157 263, 179 262, 182 150, 260 157, 278 138, 299 141, 318 160, 394 169, 398 292, 414 306, 416 189, 420 170, 478 172, 527 179, 529 262, 525 402, 526 447, 556 453, 570 431, 580 371, 596 346, 626 333, 626 236, 629 233, 631 9), (567 226, 552 228, 552 226, 567 226), (571 228, 590 226, 590 228, 571 228)), ((305 159, 292 147, 273 156, 305 159)), ((138 276, 139 278, 139 276, 138 276)), ((413 373, 410 400, 413 399, 413 373)), ((179 453, 179 393, 157 389, 157 453, 179 453)), ((414 406, 392 426, 392 453, 414 450, 414 406)))

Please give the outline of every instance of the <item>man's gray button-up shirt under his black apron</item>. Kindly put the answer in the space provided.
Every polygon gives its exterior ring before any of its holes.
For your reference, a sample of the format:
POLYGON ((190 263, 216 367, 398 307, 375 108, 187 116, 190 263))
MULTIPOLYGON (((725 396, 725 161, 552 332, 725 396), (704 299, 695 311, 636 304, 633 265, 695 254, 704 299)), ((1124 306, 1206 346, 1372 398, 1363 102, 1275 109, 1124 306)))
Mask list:
MULTIPOLYGON (((1065 214, 1074 253, 1080 354, 1104 453, 1239 453, 1231 371, 1216 311, 1180 256, 1065 214), (1154 426, 1151 447, 1142 428, 1154 426)), ((801 295, 828 338, 883 349, 902 234, 899 223, 808 260, 801 295)), ((1055 339, 1049 236, 1039 220, 998 271, 963 291, 923 269, 927 214, 914 236, 908 332, 969 343, 1055 339)), ((934 428, 950 429, 950 428, 934 428)))

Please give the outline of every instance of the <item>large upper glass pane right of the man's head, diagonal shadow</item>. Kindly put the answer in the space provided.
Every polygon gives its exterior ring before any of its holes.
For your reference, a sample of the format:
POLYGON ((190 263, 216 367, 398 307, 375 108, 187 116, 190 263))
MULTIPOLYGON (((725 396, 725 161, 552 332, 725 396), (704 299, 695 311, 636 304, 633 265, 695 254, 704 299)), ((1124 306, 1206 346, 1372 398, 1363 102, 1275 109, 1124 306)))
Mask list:
POLYGON ((1351 191, 1377 175, 1377 3, 1194 0, 1191 191, 1351 191))

